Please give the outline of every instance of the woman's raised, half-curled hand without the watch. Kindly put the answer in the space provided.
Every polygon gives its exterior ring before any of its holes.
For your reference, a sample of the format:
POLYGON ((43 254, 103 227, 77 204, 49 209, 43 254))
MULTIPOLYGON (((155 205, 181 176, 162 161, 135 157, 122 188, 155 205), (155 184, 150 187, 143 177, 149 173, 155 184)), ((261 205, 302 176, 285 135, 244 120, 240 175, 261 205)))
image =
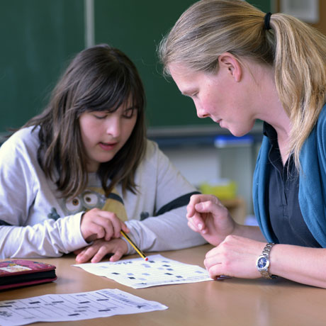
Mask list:
POLYGON ((188 225, 211 244, 219 245, 235 230, 229 211, 213 195, 193 195, 187 206, 188 225))

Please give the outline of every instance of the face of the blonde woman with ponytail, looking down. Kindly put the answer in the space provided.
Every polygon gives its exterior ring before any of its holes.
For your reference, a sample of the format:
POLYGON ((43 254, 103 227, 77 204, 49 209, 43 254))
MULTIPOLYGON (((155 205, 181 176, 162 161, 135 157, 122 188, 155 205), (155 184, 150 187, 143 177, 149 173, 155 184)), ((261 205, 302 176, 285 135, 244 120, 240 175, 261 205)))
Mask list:
POLYGON ((249 89, 235 81, 230 67, 220 65, 216 74, 208 74, 170 64, 169 71, 181 93, 193 99, 198 118, 211 118, 238 137, 252 129, 255 118, 249 89))

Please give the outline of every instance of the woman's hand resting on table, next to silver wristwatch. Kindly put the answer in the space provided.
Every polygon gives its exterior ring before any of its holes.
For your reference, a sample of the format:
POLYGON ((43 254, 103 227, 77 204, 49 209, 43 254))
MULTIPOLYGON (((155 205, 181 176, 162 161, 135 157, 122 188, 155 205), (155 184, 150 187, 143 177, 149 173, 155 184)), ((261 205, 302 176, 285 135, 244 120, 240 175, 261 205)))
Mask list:
POLYGON ((266 242, 229 235, 206 254, 204 264, 212 279, 220 275, 256 279, 261 276, 256 260, 265 245, 266 242))

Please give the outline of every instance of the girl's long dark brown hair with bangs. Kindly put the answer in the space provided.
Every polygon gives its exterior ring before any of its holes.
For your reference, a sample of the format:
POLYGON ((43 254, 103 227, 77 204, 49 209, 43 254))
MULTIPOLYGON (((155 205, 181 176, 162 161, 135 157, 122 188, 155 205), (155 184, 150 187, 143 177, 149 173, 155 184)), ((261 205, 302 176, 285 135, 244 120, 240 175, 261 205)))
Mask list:
POLYGON ((97 173, 106 195, 118 182, 123 191, 135 193, 135 169, 146 147, 145 92, 135 65, 120 50, 103 44, 79 52, 55 86, 43 113, 23 126, 40 126, 38 161, 62 197, 77 196, 88 182, 79 129, 81 113, 113 112, 130 97, 137 109, 135 128, 116 156, 101 163, 97 173))

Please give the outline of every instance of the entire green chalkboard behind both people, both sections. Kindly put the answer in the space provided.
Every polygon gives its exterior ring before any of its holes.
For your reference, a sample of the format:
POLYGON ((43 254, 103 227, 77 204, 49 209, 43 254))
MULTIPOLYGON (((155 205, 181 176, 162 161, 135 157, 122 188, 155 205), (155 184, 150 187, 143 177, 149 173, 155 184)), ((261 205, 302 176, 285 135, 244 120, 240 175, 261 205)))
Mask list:
MULTIPOLYGON (((269 11, 271 0, 252 0, 269 11)), ((213 124, 165 80, 156 47, 193 0, 94 0, 95 43, 137 65, 152 128, 213 124)), ((0 0, 0 134, 43 110, 67 62, 85 46, 84 0, 0 0)))

